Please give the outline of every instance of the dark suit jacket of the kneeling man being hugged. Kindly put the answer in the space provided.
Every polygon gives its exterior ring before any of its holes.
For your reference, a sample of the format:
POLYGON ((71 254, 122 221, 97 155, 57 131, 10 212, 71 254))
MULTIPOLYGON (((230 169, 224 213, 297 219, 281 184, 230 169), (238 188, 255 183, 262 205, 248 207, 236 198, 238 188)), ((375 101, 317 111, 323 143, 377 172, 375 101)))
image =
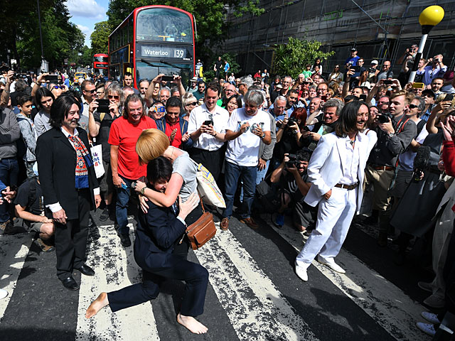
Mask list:
POLYGON ((139 219, 134 241, 134 259, 142 268, 166 266, 166 256, 173 245, 183 237, 186 225, 177 219, 172 207, 159 207, 147 202, 149 210, 139 210, 139 219))

